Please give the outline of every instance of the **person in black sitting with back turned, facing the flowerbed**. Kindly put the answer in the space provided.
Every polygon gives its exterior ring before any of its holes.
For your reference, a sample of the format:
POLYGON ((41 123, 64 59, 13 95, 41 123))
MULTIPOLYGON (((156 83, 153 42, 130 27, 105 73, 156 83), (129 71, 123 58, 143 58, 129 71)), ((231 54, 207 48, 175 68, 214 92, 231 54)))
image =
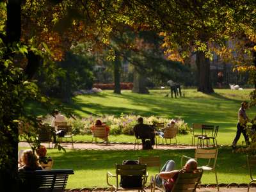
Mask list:
POLYGON ((142 145, 145 145, 145 140, 150 139, 151 145, 155 145, 154 128, 150 125, 143 124, 143 118, 138 118, 138 124, 133 127, 133 132, 136 138, 140 138, 142 145))

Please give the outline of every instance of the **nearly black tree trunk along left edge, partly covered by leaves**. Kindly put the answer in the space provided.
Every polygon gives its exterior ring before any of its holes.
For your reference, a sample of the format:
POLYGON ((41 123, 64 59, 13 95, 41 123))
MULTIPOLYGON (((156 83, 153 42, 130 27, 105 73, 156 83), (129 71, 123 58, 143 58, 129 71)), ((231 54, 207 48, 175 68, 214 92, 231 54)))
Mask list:
MULTIPOLYGON (((12 45, 14 42, 20 41, 21 33, 21 1, 13 0, 7 3, 7 20, 6 20, 6 45, 12 45)), ((11 50, 8 50, 9 56, 12 56, 11 50)), ((14 82, 13 82, 14 83, 14 82)), ((18 124, 13 120, 19 119, 20 110, 16 105, 17 100, 12 100, 13 111, 6 111, 8 113, 3 115, 4 127, 1 127, 3 135, 1 135, 2 147, 4 154, 8 154, 8 158, 1 159, 1 172, 0 172, 0 186, 3 191, 18 191, 17 182, 17 162, 18 162, 18 124), (8 129, 7 129, 8 128, 8 129), (4 145, 7 144, 7 145, 4 145), (4 190, 4 188, 8 188, 4 190)), ((12 105, 11 104, 11 105, 12 105)), ((11 106, 10 106, 11 108, 11 106)))

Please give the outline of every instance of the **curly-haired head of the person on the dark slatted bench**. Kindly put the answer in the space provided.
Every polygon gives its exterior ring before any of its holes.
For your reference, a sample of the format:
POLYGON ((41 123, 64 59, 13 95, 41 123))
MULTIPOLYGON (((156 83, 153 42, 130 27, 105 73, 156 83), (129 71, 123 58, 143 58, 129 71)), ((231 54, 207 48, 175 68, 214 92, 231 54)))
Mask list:
POLYGON ((22 164, 32 169, 36 169, 39 166, 38 156, 36 156, 31 149, 24 150, 21 156, 21 161, 22 164))

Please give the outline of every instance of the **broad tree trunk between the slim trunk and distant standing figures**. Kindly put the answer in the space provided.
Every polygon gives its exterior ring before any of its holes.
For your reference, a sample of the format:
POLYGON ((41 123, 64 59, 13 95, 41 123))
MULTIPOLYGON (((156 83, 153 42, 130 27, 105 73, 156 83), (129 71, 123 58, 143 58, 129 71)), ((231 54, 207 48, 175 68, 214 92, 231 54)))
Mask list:
POLYGON ((142 93, 142 94, 148 94, 148 88, 146 87, 146 77, 138 72, 136 68, 134 68, 133 73, 133 93, 142 93))

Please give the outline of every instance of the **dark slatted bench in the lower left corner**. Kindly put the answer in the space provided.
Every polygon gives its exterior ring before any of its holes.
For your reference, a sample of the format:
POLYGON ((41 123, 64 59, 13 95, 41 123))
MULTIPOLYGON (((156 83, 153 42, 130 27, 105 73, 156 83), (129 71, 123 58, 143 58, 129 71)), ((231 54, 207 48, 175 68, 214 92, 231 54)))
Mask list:
POLYGON ((68 175, 74 174, 72 169, 36 170, 35 172, 19 172, 19 191, 27 192, 61 192, 65 191, 68 175))

